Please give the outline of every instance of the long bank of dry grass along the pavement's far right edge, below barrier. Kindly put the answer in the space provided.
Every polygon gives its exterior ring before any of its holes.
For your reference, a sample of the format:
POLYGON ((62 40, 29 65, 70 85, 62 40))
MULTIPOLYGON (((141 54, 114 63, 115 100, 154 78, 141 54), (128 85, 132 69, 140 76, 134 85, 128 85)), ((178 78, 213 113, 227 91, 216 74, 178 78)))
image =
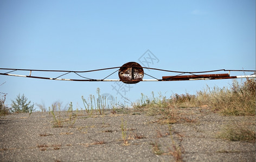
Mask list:
MULTIPOLYGON (((168 123, 176 123, 182 119, 176 108, 200 107, 207 105, 214 111, 225 115, 253 116, 255 115, 255 79, 246 79, 239 83, 233 80, 230 87, 207 87, 196 95, 174 94, 169 99, 159 93, 159 97, 149 98, 142 93, 142 97, 133 104, 136 111, 146 111, 149 115, 162 114, 168 123)), ((186 120, 186 119, 185 119, 186 120)), ((191 119, 190 119, 191 120, 191 119)))

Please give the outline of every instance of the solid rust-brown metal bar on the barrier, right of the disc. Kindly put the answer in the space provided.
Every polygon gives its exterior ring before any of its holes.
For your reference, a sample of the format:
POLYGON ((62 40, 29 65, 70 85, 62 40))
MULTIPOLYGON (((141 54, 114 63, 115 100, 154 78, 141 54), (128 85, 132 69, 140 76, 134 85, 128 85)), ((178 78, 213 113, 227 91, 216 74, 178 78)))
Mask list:
POLYGON ((163 76, 163 80, 189 80, 189 79, 200 79, 200 78, 227 78, 228 73, 210 74, 210 75, 187 75, 187 76, 163 76))

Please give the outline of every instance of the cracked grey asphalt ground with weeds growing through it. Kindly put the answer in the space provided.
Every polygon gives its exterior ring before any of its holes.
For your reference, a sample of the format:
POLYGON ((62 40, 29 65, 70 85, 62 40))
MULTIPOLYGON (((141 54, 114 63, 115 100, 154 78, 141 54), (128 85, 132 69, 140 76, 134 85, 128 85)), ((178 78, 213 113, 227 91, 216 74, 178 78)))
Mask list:
POLYGON ((49 112, 1 116, 0 161, 255 161, 255 143, 216 137, 227 124, 255 129, 255 116, 180 111, 190 120, 171 125, 132 110, 92 116, 55 112, 62 127, 49 112))

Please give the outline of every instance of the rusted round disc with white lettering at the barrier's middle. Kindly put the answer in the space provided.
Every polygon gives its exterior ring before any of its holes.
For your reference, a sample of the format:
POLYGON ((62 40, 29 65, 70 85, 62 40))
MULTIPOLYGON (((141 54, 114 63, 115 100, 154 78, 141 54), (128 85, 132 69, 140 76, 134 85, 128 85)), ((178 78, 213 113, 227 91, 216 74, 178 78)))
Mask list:
POLYGON ((120 80, 126 84, 135 84, 142 81, 144 71, 136 62, 129 62, 121 66, 118 72, 120 80))

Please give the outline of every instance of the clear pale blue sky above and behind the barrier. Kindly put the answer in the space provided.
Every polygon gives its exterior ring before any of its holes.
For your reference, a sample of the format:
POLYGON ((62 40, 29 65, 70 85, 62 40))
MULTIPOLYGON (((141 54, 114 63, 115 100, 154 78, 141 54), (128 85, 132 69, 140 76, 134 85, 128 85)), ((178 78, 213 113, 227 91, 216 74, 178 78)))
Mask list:
MULTIPOLYGON (((111 68, 127 62, 142 64, 147 50, 155 56, 148 64, 150 68, 254 70, 255 1, 0 1, 0 68, 111 68)), ((83 76, 102 79, 114 70, 83 76)), ((144 72, 157 78, 174 75, 146 69, 144 72)), ((118 73, 110 78, 118 79, 118 73)), ((24 93, 33 103, 44 102, 48 107, 60 100, 63 104, 73 102, 74 108, 80 109, 81 96, 95 95, 97 87, 101 94, 109 93, 121 100, 121 93, 135 101, 140 93, 150 96, 151 91, 162 92, 167 97, 173 93, 195 94, 206 85, 228 86, 232 80, 140 82, 121 84, 120 89, 119 82, 0 76, 0 83, 4 82, 0 92, 8 93, 9 105, 24 93)))

